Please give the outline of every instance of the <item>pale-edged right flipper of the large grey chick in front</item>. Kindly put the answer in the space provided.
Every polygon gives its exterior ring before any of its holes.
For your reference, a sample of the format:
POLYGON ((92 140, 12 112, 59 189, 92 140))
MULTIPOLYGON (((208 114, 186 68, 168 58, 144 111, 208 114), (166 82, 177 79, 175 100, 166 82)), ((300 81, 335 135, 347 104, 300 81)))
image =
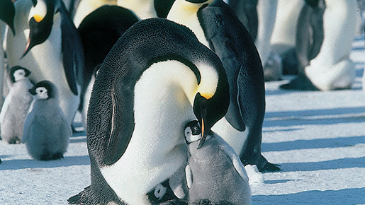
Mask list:
POLYGON ((215 139, 219 141, 220 148, 223 149, 223 151, 227 154, 228 158, 232 161, 233 167, 238 172, 242 180, 245 180, 248 182, 248 176, 247 172, 245 170, 244 165, 242 164, 240 158, 237 156, 237 153, 235 153, 235 150, 226 142, 224 141, 220 136, 215 136, 215 139))

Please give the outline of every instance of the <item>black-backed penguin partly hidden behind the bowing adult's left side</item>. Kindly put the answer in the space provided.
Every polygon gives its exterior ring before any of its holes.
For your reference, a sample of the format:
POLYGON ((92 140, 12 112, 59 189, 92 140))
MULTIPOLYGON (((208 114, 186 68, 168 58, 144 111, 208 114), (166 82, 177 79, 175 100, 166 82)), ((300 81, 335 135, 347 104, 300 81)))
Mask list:
POLYGON ((79 107, 84 127, 86 127, 86 112, 96 71, 119 37, 137 21, 139 21, 137 16, 126 8, 101 6, 86 16, 77 28, 82 39, 85 58, 82 99, 79 107))

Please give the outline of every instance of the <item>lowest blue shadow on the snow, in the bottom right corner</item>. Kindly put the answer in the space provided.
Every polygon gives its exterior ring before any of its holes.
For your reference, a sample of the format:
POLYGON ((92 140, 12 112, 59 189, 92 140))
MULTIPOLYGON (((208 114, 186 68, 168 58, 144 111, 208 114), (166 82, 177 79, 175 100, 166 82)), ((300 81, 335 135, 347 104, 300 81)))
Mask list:
POLYGON ((315 200, 315 204, 364 204, 364 196, 361 193, 365 193, 365 188, 255 195, 252 196, 252 204, 308 204, 308 201, 305 201, 307 199, 315 200))

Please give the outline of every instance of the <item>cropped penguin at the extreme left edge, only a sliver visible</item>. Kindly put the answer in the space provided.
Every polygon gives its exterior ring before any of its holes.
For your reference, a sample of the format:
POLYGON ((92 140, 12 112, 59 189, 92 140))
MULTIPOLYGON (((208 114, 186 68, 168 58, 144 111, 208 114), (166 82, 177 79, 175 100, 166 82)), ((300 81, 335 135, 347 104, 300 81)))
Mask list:
POLYGON ((13 35, 15 35, 14 30, 14 16, 15 8, 13 1, 2 0, 0 1, 0 106, 3 105, 3 85, 4 85, 4 73, 5 73, 5 54, 3 49, 3 41, 5 37, 6 25, 9 26, 13 35))

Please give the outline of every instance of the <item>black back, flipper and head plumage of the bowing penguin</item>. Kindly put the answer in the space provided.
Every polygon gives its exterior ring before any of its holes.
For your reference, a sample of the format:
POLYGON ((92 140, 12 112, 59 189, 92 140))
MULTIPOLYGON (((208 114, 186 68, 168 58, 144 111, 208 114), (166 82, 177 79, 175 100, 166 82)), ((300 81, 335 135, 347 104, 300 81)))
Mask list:
POLYGON ((193 111, 206 130, 225 116, 229 105, 228 80, 214 52, 198 42, 184 25, 164 18, 139 21, 120 37, 106 56, 91 93, 86 133, 89 153, 98 156, 99 165, 111 165, 123 156, 135 127, 135 83, 152 64, 167 60, 189 66, 197 81, 200 81, 200 71, 194 63, 203 62, 213 67, 219 77, 217 90, 211 98, 198 93, 193 111))

